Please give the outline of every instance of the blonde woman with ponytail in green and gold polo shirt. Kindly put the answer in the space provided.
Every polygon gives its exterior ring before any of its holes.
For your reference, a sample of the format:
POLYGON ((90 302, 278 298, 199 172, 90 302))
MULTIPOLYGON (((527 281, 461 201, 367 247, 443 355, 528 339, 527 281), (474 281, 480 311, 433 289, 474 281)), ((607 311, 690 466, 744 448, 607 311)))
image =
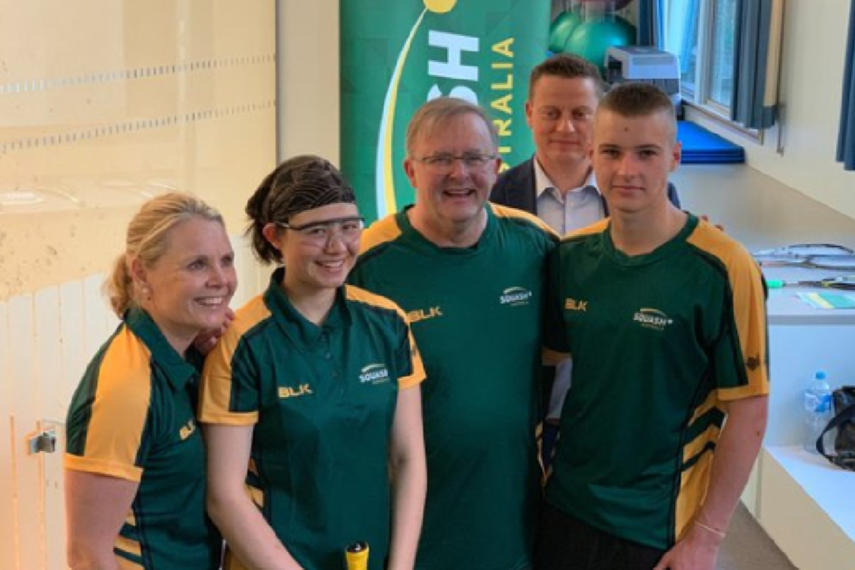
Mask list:
POLYGON ((223 220, 196 197, 144 203, 105 289, 121 324, 68 410, 68 565, 215 570, 221 538, 204 508, 196 429, 202 358, 236 278, 223 220))

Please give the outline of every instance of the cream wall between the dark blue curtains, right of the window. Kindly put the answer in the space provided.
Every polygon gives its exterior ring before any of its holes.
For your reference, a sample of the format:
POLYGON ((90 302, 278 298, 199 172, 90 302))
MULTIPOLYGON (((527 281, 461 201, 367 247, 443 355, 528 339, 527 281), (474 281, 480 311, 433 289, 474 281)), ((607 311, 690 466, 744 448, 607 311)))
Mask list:
POLYGON ((849 6, 849 0, 786 3, 782 120, 764 144, 699 122, 744 146, 750 166, 855 218, 855 173, 834 161, 849 6))

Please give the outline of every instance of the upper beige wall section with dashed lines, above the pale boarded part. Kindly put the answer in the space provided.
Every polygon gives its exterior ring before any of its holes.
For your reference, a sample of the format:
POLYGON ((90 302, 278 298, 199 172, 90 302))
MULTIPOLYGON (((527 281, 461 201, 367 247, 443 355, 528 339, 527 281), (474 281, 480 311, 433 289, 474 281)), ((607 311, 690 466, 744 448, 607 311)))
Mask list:
POLYGON ((270 3, 0 0, 0 300, 105 270, 176 188, 232 233, 275 161, 270 3))

